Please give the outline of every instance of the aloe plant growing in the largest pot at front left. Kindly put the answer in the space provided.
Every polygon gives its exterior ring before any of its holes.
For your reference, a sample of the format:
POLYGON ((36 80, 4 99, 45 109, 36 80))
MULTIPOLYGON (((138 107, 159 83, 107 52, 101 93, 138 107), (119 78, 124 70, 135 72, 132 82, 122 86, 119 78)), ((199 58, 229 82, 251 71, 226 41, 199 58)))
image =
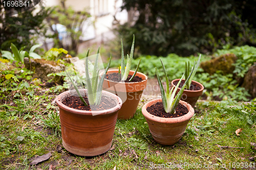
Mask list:
MULTIPOLYGON (((101 100, 101 94, 102 94, 101 92, 102 92, 103 80, 104 80, 104 77, 106 75, 106 72, 109 69, 112 56, 110 55, 109 63, 106 66, 101 79, 98 81, 98 76, 99 76, 99 68, 98 68, 99 49, 98 49, 98 52, 97 52, 97 55, 96 55, 96 60, 95 60, 95 63, 94 63, 92 80, 90 79, 90 75, 89 75, 88 55, 89 55, 89 50, 88 50, 87 56, 86 56, 86 67, 85 67, 85 69, 86 69, 86 82, 87 82, 87 89, 88 89, 88 100, 89 100, 90 105, 99 105, 100 100, 101 100)), ((68 77, 70 79, 70 82, 74 86, 74 88, 75 88, 80 100, 82 101, 82 103, 85 106, 88 106, 87 103, 82 98, 81 93, 79 92, 76 84, 74 83, 74 81, 72 80, 70 75, 68 74, 67 70, 66 70, 66 74, 68 75, 68 77)))

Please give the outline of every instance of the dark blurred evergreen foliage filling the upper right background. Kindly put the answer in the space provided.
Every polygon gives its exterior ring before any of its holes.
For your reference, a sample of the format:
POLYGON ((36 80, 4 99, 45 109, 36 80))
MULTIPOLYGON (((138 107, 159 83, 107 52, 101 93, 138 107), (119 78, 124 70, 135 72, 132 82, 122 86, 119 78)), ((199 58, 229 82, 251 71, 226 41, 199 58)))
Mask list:
POLYGON ((130 23, 117 31, 126 41, 124 51, 137 38, 135 49, 143 55, 187 56, 216 51, 223 45, 255 45, 254 1, 139 1, 124 0, 131 10, 130 23))

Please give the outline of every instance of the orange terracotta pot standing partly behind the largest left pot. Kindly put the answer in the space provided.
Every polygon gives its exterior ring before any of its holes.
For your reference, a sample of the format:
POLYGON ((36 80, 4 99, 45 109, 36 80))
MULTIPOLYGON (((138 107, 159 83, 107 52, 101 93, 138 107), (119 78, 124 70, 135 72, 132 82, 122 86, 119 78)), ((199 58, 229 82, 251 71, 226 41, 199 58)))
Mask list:
MULTIPOLYGON (((113 72, 118 72, 118 69, 109 70, 108 74, 113 72)), ((130 71, 129 74, 133 75, 134 72, 135 71, 130 71)), ((101 72, 100 76, 102 74, 103 72, 101 72)), ((130 119, 134 116, 140 102, 142 92, 146 88, 147 76, 138 71, 136 72, 136 76, 141 77, 143 81, 124 83, 104 79, 102 89, 118 95, 123 102, 122 107, 118 112, 117 118, 119 119, 130 119)))

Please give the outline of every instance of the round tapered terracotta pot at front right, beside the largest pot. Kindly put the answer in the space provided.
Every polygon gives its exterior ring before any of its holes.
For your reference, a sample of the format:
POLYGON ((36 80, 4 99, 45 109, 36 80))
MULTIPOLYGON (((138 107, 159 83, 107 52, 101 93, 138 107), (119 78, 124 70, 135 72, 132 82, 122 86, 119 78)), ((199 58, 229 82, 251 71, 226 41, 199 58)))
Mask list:
POLYGON ((185 129, 190 118, 194 115, 194 108, 184 101, 180 101, 180 104, 184 105, 188 109, 188 113, 181 117, 175 118, 163 118, 150 114, 146 111, 147 107, 150 107, 157 102, 162 102, 162 99, 155 99, 147 102, 142 107, 142 114, 144 115, 148 128, 156 142, 164 145, 173 145, 177 143, 185 129))

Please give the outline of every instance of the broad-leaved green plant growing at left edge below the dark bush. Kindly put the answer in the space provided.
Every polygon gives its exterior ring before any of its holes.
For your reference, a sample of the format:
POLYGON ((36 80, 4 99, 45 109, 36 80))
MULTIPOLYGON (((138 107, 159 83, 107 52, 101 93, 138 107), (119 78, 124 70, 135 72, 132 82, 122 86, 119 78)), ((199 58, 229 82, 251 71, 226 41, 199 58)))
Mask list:
POLYGON ((34 53, 35 49, 38 48, 39 46, 41 46, 42 44, 36 44, 36 45, 33 45, 30 50, 29 50, 29 53, 26 52, 26 51, 23 51, 25 46, 20 48, 18 50, 18 48, 16 47, 16 45, 14 45, 13 43, 11 43, 11 50, 12 50, 12 53, 11 52, 8 52, 8 51, 1 51, 2 53, 2 57, 5 57, 7 59, 10 59, 10 60, 15 60, 15 61, 18 61, 18 62, 22 62, 24 63, 24 58, 25 57, 32 57, 34 59, 40 59, 41 56, 39 56, 38 54, 34 53))

